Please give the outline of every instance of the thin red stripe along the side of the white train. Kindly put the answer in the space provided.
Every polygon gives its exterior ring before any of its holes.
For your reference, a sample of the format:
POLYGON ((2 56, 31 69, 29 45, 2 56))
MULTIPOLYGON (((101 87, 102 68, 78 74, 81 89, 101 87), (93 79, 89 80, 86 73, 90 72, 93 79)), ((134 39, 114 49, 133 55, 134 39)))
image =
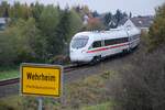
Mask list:
POLYGON ((114 46, 110 46, 110 47, 102 47, 102 48, 98 48, 98 50, 94 50, 94 51, 88 51, 87 53, 95 53, 95 52, 100 52, 100 51, 107 51, 107 50, 110 50, 110 48, 117 48, 117 47, 121 47, 121 46, 125 46, 125 45, 129 45, 129 43, 114 45, 114 46))

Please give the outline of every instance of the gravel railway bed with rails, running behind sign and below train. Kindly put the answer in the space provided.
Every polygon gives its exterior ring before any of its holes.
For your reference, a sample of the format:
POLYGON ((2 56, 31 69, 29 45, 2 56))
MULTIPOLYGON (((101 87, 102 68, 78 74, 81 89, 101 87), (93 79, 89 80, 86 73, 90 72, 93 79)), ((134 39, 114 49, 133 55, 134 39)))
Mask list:
MULTIPOLYGON (((125 55, 116 55, 106 58, 101 61, 101 63, 96 64, 95 66, 94 65, 63 66, 64 84, 72 82, 77 79, 88 77, 90 75, 100 74, 102 73, 102 70, 119 69, 124 64, 128 64, 128 61, 130 61, 131 57, 134 57, 135 54, 133 53, 125 54, 125 55)), ((19 84, 20 84, 20 78, 0 80, 0 98, 18 95, 20 92, 19 84)))

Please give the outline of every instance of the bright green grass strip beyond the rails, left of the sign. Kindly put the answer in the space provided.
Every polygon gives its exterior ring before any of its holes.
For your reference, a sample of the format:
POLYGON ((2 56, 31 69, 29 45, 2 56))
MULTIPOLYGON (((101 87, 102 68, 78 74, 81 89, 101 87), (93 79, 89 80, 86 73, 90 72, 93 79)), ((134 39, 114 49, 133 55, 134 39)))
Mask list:
POLYGON ((0 80, 19 77, 19 69, 9 69, 0 72, 0 80))

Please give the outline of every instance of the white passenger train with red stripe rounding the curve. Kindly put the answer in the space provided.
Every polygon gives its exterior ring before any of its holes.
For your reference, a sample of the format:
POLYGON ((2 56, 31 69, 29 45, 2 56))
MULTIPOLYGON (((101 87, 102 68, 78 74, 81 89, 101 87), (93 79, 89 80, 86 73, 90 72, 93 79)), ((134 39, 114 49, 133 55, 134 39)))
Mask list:
POLYGON ((136 28, 118 28, 102 32, 79 32, 69 47, 73 63, 92 63, 103 57, 128 52, 140 44, 141 31, 136 28))

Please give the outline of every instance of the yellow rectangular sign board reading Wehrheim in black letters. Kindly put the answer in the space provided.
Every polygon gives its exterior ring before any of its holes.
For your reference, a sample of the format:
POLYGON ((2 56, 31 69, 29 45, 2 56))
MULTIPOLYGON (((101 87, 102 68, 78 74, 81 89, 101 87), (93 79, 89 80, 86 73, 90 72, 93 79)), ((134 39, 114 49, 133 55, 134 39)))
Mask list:
POLYGON ((23 63, 20 81, 22 95, 61 97, 62 66, 23 63))

